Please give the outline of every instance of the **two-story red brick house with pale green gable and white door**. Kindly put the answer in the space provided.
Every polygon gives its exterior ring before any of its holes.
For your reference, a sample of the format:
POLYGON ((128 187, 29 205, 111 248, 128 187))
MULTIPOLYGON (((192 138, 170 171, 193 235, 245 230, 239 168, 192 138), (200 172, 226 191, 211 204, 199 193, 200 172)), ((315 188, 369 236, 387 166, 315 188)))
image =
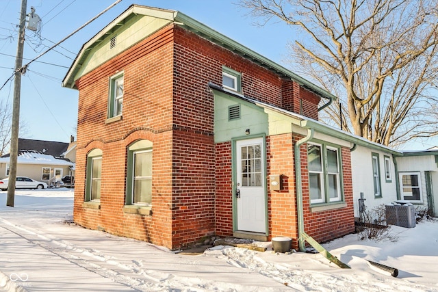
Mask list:
POLYGON ((170 249, 355 228, 350 135, 318 122, 335 96, 181 12, 131 5, 63 86, 81 226, 170 249))

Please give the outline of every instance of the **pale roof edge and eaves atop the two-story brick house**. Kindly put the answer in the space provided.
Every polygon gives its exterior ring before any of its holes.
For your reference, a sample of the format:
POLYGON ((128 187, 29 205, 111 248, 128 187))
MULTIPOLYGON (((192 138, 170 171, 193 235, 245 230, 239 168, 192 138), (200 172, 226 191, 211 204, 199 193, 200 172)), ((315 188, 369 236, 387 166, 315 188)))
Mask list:
MULTIPOLYGON (((75 58, 75 61, 73 62, 72 66, 70 66, 70 69, 64 77, 62 85, 66 88, 75 88, 75 76, 80 71, 80 68, 81 66, 83 66, 84 62, 86 62, 86 59, 91 53, 92 49, 100 42, 102 42, 105 38, 110 38, 110 35, 112 35, 114 31, 116 31, 120 27, 123 27, 123 25, 125 25, 125 23, 129 21, 129 19, 137 15, 151 16, 154 18, 167 20, 168 22, 166 23, 166 25, 168 25, 169 23, 179 25, 183 29, 192 31, 198 36, 202 36, 203 38, 206 38, 207 40, 210 40, 211 42, 214 42, 219 46, 224 47, 225 49, 233 51, 233 53, 237 53, 238 55, 249 59, 251 62, 258 64, 259 66, 275 72, 277 75, 281 75, 283 78, 295 81, 302 87, 307 88, 312 92, 315 92, 315 94, 318 94, 322 98, 327 98, 329 100, 336 99, 336 96, 334 96, 330 92, 327 92, 326 90, 311 83, 310 81, 307 81, 306 79, 296 75, 294 72, 287 70, 283 66, 272 62, 270 59, 263 57, 259 53, 256 53, 255 51, 248 49, 247 47, 244 47, 242 44, 235 42, 235 40, 232 40, 231 38, 220 34, 218 31, 207 27, 203 23, 200 23, 195 19, 190 18, 190 16, 187 16, 176 10, 165 10, 136 4, 129 6, 129 8, 125 10, 125 12, 120 14, 120 16, 114 19, 114 21, 112 21, 105 28, 99 31, 96 36, 83 44, 81 50, 75 58)), ((146 37, 147 36, 142 36, 142 38, 138 38, 137 42, 140 42, 140 40, 146 37)), ((85 73, 86 72, 84 72, 84 74, 85 73)))

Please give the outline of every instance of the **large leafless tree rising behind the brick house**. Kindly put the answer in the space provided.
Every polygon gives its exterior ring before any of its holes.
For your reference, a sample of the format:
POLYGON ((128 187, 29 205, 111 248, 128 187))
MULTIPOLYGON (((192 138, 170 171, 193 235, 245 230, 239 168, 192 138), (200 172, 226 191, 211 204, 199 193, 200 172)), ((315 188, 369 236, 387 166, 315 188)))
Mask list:
POLYGON ((438 75, 436 0, 240 5, 264 23, 276 18, 298 29, 290 51, 294 68, 339 96, 325 114, 339 126, 342 120, 345 131, 391 146, 436 135, 430 107, 437 103, 430 93, 438 75))

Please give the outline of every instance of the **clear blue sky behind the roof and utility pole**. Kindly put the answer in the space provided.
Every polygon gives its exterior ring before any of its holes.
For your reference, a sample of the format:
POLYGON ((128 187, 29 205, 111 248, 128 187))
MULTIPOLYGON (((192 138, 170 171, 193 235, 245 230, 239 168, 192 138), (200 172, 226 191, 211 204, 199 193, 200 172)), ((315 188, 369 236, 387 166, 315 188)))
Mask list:
MULTIPOLYGON (((116 0, 27 0, 42 18, 40 36, 27 30, 24 62, 40 55, 116 0)), ((271 21, 257 27, 248 11, 240 8, 238 0, 123 0, 77 34, 45 54, 29 66, 22 77, 21 120, 27 123, 27 135, 36 140, 68 142, 75 135, 77 124, 77 90, 62 88, 62 79, 73 63, 83 43, 124 12, 132 3, 157 8, 179 10, 244 46, 285 67, 287 42, 294 40, 294 31, 284 23, 271 21), (44 63, 43 63, 44 62, 44 63)), ((17 47, 20 0, 0 0, 0 86, 13 74, 17 47)), ((291 68, 294 70, 294 68, 291 68)), ((0 90, 0 100, 12 105, 13 82, 0 90)), ((426 149, 425 144, 410 143, 405 149, 426 149)))

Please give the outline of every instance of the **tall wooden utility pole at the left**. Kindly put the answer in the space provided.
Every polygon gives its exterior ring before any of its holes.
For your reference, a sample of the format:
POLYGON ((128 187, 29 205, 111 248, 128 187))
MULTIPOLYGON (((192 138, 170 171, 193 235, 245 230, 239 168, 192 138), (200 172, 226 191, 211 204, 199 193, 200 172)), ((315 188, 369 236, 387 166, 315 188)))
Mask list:
POLYGON ((15 58, 14 102, 12 104, 12 133, 9 161, 8 198, 6 206, 14 207, 16 164, 18 159, 18 128, 20 125, 21 75, 23 74, 23 48, 25 42, 27 0, 21 0, 20 24, 18 25, 18 46, 15 58))

